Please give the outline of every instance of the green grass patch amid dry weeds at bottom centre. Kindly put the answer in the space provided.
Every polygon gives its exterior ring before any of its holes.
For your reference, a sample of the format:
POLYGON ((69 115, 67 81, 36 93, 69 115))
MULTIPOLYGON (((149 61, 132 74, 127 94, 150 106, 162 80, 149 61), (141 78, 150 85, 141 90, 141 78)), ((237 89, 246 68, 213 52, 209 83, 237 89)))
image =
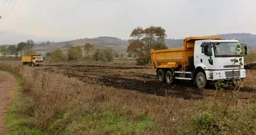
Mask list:
POLYGON ((68 134, 140 134, 152 125, 145 115, 117 115, 112 109, 94 112, 68 125, 68 134))

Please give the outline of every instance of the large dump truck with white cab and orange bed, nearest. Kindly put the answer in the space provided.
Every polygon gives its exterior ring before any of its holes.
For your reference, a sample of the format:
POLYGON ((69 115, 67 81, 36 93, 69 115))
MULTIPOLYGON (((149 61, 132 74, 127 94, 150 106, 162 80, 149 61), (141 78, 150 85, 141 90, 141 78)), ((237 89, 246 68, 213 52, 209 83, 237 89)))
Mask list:
POLYGON ((191 80, 198 88, 205 88, 209 81, 246 77, 244 66, 232 61, 240 53, 235 51, 238 40, 199 36, 185 38, 183 44, 177 49, 150 51, 159 81, 173 84, 178 79, 191 80))

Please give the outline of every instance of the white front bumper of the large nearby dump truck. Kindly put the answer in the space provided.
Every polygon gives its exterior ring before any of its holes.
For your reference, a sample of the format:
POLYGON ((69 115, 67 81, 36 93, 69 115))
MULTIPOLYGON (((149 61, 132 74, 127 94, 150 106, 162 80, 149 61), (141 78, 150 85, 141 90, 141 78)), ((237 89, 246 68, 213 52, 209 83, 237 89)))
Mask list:
POLYGON ((246 77, 246 70, 205 70, 205 75, 207 80, 228 80, 232 78, 245 78, 246 77))

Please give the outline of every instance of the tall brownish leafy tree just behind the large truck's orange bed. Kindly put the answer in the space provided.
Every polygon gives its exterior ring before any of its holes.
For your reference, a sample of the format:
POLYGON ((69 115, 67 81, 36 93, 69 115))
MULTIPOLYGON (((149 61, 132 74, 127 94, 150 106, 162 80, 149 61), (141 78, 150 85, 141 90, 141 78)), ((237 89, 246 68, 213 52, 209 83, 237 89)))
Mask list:
POLYGON ((150 26, 145 29, 138 27, 130 36, 127 52, 138 55, 138 60, 143 63, 150 61, 150 49, 168 49, 164 42, 165 30, 161 27, 150 26))

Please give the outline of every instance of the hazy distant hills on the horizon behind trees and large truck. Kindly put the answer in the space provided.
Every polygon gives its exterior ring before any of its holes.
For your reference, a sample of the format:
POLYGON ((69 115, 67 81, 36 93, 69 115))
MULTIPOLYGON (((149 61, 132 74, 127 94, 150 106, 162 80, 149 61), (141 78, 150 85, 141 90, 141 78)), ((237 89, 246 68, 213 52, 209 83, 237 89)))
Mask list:
MULTIPOLYGON (((237 39, 240 42, 245 42, 246 44, 248 44, 248 48, 256 47, 256 35, 252 35, 250 33, 229 33, 215 36, 221 36, 224 39, 237 39)), ((120 38, 109 36, 99 36, 98 38, 82 38, 66 42, 56 42, 48 44, 41 42, 40 44, 35 46, 35 50, 44 53, 60 48, 63 51, 66 51, 70 46, 82 46, 85 43, 95 44, 97 49, 102 47, 111 47, 114 49, 114 51, 120 52, 125 51, 127 49, 127 46, 129 45, 128 40, 122 40, 120 38)), ((166 39, 166 45, 168 45, 169 48, 181 47, 182 39, 166 39)))

